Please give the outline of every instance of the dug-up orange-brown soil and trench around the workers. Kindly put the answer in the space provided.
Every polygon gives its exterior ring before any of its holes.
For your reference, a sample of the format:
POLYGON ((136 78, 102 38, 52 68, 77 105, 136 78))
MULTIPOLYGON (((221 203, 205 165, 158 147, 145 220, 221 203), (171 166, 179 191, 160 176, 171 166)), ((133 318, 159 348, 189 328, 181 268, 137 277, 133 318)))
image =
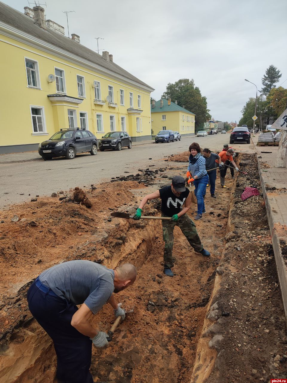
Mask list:
MULTIPOLYGON (((233 182, 228 173, 225 190, 217 179, 216 200, 207 189, 207 213, 197 229, 210 258, 195 253, 175 228, 173 278, 163 274, 161 223, 110 217, 111 211, 134 213, 143 195, 170 183, 175 172, 183 175, 186 164, 174 167, 171 160, 162 169, 165 177, 153 172, 148 180, 121 177, 93 185, 86 190, 91 208, 75 203, 70 191, 61 201, 40 198, 0 213, 1 383, 54 381, 51 340, 31 317, 25 296, 42 270, 72 259, 112 268, 131 262, 138 270, 134 285, 116 296, 132 300, 134 313, 107 349, 93 349, 95 382, 239 382, 286 373, 284 316, 264 201, 260 195, 240 202, 245 186, 259 188, 256 157, 244 157, 249 179, 240 175, 233 182), (11 222, 15 215, 18 221, 11 222)), ((159 208, 150 202, 144 212, 158 215, 159 208)), ((93 324, 108 331, 113 321, 113 310, 104 305, 93 324)))

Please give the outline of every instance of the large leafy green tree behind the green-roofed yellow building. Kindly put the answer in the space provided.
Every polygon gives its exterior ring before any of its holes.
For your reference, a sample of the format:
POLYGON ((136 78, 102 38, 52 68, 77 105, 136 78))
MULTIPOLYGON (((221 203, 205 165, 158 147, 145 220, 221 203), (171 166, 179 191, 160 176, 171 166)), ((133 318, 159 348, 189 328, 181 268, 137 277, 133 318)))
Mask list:
POLYGON ((178 102, 178 105, 191 111, 195 116, 195 131, 203 128, 205 121, 211 119, 207 109, 206 97, 201 95, 199 87, 194 85, 194 80, 180 79, 175 83, 168 83, 166 90, 161 96, 165 99, 178 102))

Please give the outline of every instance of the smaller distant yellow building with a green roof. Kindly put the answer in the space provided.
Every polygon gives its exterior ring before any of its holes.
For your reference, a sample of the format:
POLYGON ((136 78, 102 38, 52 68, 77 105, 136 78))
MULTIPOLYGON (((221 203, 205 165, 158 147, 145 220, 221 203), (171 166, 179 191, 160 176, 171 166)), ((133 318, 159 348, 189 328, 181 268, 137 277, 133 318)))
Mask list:
POLYGON ((178 131, 181 136, 194 135, 195 114, 170 100, 152 101, 151 114, 153 135, 160 130, 178 131))

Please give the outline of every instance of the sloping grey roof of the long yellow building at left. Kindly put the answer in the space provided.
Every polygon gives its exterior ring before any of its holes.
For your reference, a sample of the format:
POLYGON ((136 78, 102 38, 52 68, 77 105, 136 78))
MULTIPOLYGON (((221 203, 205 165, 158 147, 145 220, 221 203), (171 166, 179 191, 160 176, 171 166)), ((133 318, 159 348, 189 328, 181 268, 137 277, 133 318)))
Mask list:
POLYGON ((147 85, 145 82, 139 80, 137 77, 122 69, 114 62, 105 61, 100 54, 92 51, 82 44, 77 43, 76 41, 73 41, 66 36, 63 36, 62 34, 53 31, 50 28, 40 28, 38 25, 34 24, 32 18, 2 2, 0 2, 0 21, 10 24, 13 27, 29 33, 39 39, 47 41, 50 44, 54 44, 55 46, 62 48, 65 51, 71 52, 79 57, 82 57, 83 59, 89 60, 91 63, 101 65, 103 68, 111 70, 115 74, 137 82, 139 85, 143 85, 144 87, 148 87, 151 90, 154 90, 150 85, 147 85))

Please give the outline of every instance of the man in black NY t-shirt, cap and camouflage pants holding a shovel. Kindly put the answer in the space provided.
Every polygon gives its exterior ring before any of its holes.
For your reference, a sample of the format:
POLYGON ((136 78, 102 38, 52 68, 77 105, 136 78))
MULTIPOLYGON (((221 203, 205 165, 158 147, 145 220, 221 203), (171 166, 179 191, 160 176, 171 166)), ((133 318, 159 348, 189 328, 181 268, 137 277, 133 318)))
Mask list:
POLYGON ((140 203, 140 206, 134 215, 134 219, 140 219, 143 206, 145 206, 147 201, 154 200, 155 198, 161 199, 161 216, 171 217, 170 220, 162 221, 162 228, 163 240, 165 241, 163 255, 165 261, 164 272, 169 277, 173 277, 171 267, 173 267, 172 249, 174 226, 177 225, 181 229, 189 244, 197 253, 209 257, 210 252, 204 250, 199 235, 197 234, 196 226, 192 219, 186 214, 191 207, 191 194, 188 188, 185 187, 183 177, 175 176, 173 177, 170 186, 166 186, 152 194, 146 195, 140 203))

